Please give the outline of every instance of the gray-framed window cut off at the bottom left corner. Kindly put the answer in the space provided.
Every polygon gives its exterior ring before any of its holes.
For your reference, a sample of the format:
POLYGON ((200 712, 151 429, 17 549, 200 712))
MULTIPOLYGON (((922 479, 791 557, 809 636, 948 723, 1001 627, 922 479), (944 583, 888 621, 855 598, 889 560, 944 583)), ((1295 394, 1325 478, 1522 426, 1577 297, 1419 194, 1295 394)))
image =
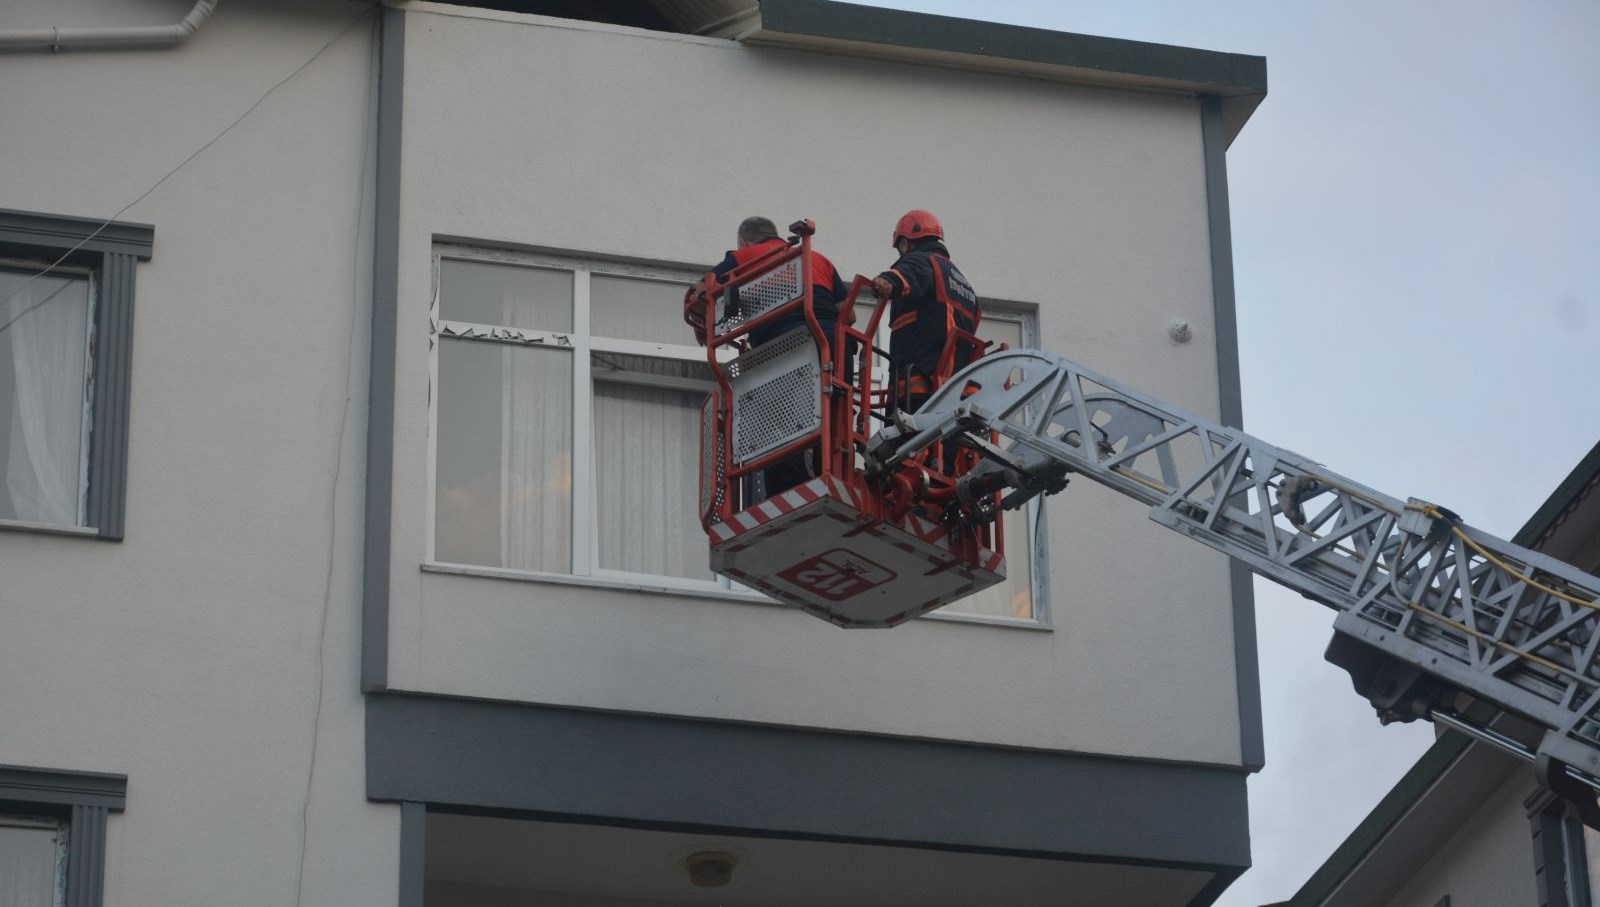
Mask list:
POLYGON ((106 816, 126 792, 120 774, 0 766, 0 904, 98 907, 106 816))

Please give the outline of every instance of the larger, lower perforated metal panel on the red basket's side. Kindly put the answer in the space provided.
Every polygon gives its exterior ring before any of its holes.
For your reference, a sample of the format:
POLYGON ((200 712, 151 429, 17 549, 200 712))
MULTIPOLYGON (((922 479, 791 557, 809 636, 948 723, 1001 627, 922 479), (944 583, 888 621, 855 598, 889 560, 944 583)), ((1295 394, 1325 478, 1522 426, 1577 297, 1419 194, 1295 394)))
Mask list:
POLYGON ((811 331, 800 328, 728 363, 734 462, 750 462, 822 424, 818 358, 811 331))

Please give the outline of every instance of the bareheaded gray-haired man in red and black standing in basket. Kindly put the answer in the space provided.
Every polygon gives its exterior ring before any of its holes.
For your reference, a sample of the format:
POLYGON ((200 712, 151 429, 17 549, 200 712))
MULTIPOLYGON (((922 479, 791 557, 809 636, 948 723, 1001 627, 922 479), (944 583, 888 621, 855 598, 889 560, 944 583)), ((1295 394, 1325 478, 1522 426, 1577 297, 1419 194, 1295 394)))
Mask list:
MULTIPOLYGON (((694 282, 688 293, 683 294, 683 320, 694 328, 694 339, 701 346, 706 344, 706 296, 707 288, 720 285, 733 270, 742 264, 752 262, 774 250, 784 248, 782 237, 778 235, 778 226, 768 218, 746 218, 739 224, 738 246, 723 256, 722 262, 717 264, 706 277, 694 282)), ((838 323, 838 304, 845 299, 848 290, 845 282, 838 278, 838 272, 834 269, 834 262, 827 261, 822 253, 811 251, 811 310, 816 312, 816 320, 822 326, 822 336, 832 338, 834 326, 838 323)), ((776 323, 765 325, 757 331, 750 331, 750 344, 762 346, 768 341, 778 339, 789 331, 803 328, 806 325, 805 312, 795 310, 790 315, 779 318, 776 323)), ((827 349, 824 347, 824 352, 827 349)), ((818 457, 821 450, 811 446, 789 459, 784 459, 774 465, 762 470, 762 485, 766 497, 787 491, 795 485, 800 485, 818 475, 818 457)))

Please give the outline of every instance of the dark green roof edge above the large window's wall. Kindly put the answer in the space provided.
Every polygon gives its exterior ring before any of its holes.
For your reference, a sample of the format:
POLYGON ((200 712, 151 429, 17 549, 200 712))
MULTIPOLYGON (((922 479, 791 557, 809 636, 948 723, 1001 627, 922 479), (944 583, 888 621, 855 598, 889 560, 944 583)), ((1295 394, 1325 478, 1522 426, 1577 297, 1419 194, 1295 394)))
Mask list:
POLYGON ((747 45, 811 46, 1146 91, 1222 99, 1227 141, 1267 94, 1267 61, 1150 42, 904 13, 835 0, 762 0, 747 45))

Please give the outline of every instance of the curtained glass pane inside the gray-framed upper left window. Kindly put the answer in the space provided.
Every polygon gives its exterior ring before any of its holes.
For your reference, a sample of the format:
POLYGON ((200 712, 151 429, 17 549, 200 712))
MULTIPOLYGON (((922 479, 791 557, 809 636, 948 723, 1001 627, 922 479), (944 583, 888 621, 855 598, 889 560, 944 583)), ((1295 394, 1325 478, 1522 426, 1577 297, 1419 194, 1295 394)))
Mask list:
POLYGON ((78 525, 90 280, 0 270, 0 518, 78 525))

